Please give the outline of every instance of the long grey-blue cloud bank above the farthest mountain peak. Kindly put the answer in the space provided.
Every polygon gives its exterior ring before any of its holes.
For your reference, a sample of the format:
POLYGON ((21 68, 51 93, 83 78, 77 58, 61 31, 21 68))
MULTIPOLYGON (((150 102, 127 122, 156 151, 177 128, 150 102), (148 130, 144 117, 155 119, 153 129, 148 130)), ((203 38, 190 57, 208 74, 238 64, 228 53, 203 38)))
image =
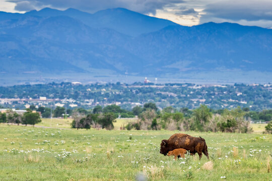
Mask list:
POLYGON ((96 12, 109 8, 126 8, 143 14, 156 14, 156 10, 161 10, 165 6, 184 3, 179 0, 10 0, 16 3, 15 10, 29 11, 33 9, 41 9, 51 7, 56 9, 75 8, 87 12, 96 12))

